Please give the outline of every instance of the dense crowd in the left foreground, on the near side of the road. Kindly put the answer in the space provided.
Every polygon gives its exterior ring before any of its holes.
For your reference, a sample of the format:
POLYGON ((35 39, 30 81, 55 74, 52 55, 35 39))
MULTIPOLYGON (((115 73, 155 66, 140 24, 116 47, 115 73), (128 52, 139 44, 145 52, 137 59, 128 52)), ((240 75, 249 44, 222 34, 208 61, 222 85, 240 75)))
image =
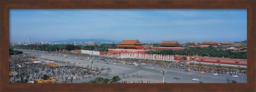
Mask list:
POLYGON ((53 67, 46 65, 45 63, 26 63, 30 60, 25 54, 18 54, 9 58, 9 71, 15 72, 9 76, 11 83, 28 83, 36 82, 37 79, 42 79, 43 75, 48 75, 55 78, 55 82, 69 82, 68 77, 74 76, 74 80, 81 80, 90 77, 97 76, 102 70, 110 71, 110 68, 98 68, 94 67, 94 71, 91 72, 89 66, 87 68, 81 68, 77 66, 59 66, 53 67))

